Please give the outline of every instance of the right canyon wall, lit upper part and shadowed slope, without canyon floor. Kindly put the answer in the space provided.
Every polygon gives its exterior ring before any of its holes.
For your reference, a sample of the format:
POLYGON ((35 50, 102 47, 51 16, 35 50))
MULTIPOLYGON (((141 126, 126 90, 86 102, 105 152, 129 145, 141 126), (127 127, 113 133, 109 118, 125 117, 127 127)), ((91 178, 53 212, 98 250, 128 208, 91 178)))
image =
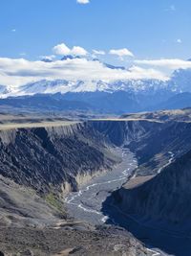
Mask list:
POLYGON ((160 116, 150 113, 141 116, 147 121, 138 116, 139 120, 135 117, 133 121, 124 121, 123 117, 114 126, 96 124, 113 142, 127 144, 138 156, 136 175, 114 193, 117 206, 142 222, 151 222, 152 226, 188 233, 191 231, 189 113, 190 109, 178 110, 174 113, 176 117, 173 114, 169 117, 170 113, 160 116), (181 115, 183 111, 186 115, 181 115))

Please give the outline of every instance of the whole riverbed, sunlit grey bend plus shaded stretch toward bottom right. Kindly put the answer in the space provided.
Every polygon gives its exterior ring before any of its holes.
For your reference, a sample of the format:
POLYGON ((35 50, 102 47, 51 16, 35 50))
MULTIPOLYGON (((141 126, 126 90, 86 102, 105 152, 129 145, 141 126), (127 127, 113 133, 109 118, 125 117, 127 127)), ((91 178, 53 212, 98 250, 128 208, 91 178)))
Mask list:
MULTIPOLYGON (((163 237, 157 232, 158 235, 155 237, 153 230, 139 225, 137 221, 132 221, 128 216, 124 216, 112 203, 107 206, 108 211, 103 211, 103 202, 106 198, 120 188, 133 175, 138 166, 135 154, 128 149, 117 149, 117 154, 122 157, 122 161, 117 167, 114 167, 113 171, 93 177, 89 183, 81 186, 78 192, 68 194, 65 198, 68 213, 75 220, 86 221, 94 225, 106 222, 123 226, 138 239, 146 236, 146 240, 143 242, 147 244, 148 250, 153 252, 153 256, 167 255, 159 250, 157 243, 158 240, 160 243, 163 239, 166 241, 166 236, 163 237), (110 213, 109 216, 107 216, 107 212, 110 213), (160 235, 161 239, 159 239, 160 235), (153 241, 153 238, 156 240, 153 241)), ((159 245, 161 245, 160 243, 159 245)))

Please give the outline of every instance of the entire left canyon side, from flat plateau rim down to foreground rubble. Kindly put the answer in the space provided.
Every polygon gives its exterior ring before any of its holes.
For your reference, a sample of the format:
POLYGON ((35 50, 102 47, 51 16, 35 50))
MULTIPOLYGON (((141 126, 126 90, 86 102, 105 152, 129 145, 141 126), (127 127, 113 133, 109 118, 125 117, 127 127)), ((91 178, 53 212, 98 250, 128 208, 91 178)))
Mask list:
POLYGON ((129 233, 96 229, 66 212, 67 192, 120 162, 108 139, 89 123, 24 120, 1 119, 0 251, 25 256, 150 255, 129 233))

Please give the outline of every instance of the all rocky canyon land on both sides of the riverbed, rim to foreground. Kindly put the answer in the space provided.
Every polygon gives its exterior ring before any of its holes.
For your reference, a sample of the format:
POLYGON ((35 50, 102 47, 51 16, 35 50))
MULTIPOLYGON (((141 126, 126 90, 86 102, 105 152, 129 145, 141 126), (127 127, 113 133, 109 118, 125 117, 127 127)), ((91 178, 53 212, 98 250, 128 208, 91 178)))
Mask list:
POLYGON ((4 252, 13 255, 29 248, 33 255, 68 255, 70 250, 74 255, 101 251, 123 255, 124 250, 126 255, 149 255, 148 249, 124 231, 96 230, 70 219, 63 198, 93 175, 112 171, 120 162, 114 147, 127 148, 137 155, 138 168, 115 193, 117 206, 156 222, 171 221, 180 229, 189 220, 189 207, 183 215, 180 212, 189 198, 190 116, 190 109, 84 122, 4 116, 0 125, 0 244, 4 252), (181 170, 181 163, 185 169, 182 165, 181 170), (174 194, 168 200, 170 191, 174 194), (178 204, 173 204, 175 198, 178 204), (169 204, 164 204, 166 200, 169 204), (33 244, 33 237, 39 244, 33 244), (125 249, 120 245, 115 250, 121 241, 125 249))

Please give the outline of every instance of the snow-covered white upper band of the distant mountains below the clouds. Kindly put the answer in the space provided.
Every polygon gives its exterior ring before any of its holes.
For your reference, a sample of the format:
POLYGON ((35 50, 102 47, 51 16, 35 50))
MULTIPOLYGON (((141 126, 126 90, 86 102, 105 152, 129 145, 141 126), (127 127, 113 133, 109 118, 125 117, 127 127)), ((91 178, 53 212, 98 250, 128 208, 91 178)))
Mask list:
MULTIPOLYGON (((122 68, 112 66, 113 68, 122 68)), ((65 94, 68 92, 108 92, 125 91, 134 94, 153 94, 158 91, 191 92, 191 69, 180 69, 173 73, 171 80, 126 80, 126 81, 34 81, 18 87, 0 85, 0 97, 17 97, 34 94, 65 94)))

